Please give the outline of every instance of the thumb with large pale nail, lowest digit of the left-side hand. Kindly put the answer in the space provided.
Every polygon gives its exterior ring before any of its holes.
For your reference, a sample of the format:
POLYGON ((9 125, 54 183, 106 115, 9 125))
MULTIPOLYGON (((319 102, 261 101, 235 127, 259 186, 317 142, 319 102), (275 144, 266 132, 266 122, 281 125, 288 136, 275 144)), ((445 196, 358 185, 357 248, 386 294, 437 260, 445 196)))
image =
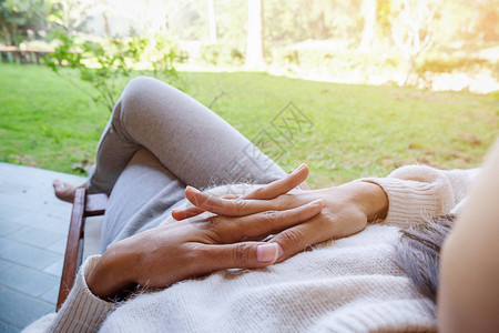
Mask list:
POLYGON ((225 269, 257 269, 273 264, 278 256, 276 243, 242 242, 235 244, 202 244, 200 251, 203 256, 205 272, 225 269))

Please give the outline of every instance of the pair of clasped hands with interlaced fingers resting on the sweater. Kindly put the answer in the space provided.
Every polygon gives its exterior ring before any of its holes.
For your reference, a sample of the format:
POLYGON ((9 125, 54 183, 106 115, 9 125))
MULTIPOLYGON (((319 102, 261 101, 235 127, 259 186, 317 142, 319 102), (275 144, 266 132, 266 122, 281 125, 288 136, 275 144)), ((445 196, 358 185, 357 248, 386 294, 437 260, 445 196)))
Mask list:
POLYGON ((379 186, 352 182, 316 191, 292 189, 305 181, 303 164, 289 175, 240 198, 221 198, 187 186, 192 208, 177 220, 113 244, 86 278, 101 299, 140 284, 165 287, 222 269, 265 268, 332 238, 363 230, 383 215, 379 186), (267 241, 265 236, 274 234, 267 241))

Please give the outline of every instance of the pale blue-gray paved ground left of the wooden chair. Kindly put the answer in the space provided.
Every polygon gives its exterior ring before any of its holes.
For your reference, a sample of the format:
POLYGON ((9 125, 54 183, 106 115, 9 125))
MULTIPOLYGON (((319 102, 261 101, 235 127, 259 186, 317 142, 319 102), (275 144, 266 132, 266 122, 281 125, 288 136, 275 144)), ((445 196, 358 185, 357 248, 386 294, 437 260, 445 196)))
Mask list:
POLYGON ((71 204, 53 195, 59 178, 84 178, 0 163, 0 332, 19 332, 53 312, 71 204))

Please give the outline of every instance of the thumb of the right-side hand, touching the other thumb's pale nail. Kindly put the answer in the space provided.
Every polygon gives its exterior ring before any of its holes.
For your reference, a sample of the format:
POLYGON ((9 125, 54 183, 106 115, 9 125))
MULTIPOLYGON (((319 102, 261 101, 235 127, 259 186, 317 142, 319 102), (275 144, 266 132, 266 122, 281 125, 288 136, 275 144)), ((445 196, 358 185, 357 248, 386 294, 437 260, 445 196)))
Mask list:
POLYGON ((316 216, 307 223, 298 224, 276 234, 269 243, 278 243, 282 252, 276 262, 282 262, 307 246, 324 242, 333 238, 330 223, 322 216, 316 216))

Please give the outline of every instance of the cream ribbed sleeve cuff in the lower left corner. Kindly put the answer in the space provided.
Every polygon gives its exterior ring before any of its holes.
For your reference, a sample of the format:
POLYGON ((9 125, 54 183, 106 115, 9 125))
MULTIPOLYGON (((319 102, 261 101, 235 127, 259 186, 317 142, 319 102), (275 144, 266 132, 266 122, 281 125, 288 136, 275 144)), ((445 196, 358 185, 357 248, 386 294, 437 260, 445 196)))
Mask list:
POLYGON ((59 312, 41 317, 23 332, 96 332, 105 317, 118 306, 94 296, 86 285, 85 278, 100 259, 100 255, 93 255, 85 260, 59 312))

